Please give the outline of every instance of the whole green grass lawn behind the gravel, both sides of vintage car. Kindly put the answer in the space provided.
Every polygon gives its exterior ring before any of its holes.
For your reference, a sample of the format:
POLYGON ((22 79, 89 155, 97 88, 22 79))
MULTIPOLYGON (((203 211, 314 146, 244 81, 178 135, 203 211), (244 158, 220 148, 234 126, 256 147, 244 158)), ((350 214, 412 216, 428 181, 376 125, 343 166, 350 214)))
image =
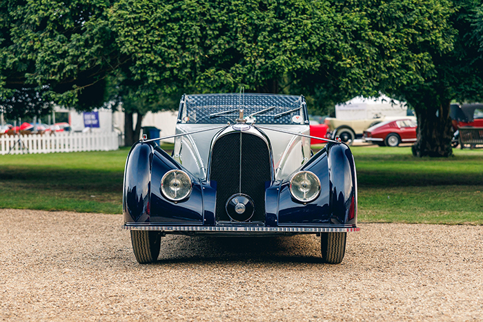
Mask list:
MULTIPOLYGON (((448 159, 414 158, 406 147, 351 150, 359 221, 483 224, 483 150, 448 159)), ((0 208, 120 214, 128 151, 0 156, 0 208)))

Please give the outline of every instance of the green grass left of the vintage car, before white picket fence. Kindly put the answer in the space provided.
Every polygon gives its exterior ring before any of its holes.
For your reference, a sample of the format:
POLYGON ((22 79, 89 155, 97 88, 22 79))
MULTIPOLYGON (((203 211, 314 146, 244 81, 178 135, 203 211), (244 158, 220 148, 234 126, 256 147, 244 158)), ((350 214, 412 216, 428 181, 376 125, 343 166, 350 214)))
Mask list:
POLYGON ((121 213, 128 151, 0 156, 0 208, 121 213))

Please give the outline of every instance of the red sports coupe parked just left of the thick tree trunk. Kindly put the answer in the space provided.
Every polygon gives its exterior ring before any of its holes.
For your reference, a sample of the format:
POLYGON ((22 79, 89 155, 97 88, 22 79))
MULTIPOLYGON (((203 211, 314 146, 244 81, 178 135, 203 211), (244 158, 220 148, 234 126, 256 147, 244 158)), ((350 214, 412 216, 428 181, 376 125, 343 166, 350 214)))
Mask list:
POLYGON ((414 119, 381 122, 365 130, 362 139, 379 146, 397 146, 401 142, 415 142, 416 128, 414 119))

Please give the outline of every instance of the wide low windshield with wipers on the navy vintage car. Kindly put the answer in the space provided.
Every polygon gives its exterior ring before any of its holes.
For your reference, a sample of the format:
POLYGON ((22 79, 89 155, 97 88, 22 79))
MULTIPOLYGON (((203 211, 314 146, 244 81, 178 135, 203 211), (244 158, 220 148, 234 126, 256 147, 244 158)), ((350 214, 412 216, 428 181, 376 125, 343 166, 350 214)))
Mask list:
POLYGON ((184 95, 178 123, 236 123, 240 109, 247 123, 305 124, 308 120, 303 96, 233 93, 184 95))

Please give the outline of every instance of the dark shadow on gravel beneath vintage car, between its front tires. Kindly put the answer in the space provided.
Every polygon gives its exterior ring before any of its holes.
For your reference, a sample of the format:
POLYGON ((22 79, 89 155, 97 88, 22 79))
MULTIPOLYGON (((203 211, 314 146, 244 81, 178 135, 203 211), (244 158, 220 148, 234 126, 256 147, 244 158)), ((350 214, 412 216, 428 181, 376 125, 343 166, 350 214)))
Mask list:
POLYGON ((158 264, 214 262, 322 263, 311 237, 174 237, 161 239, 158 264))

